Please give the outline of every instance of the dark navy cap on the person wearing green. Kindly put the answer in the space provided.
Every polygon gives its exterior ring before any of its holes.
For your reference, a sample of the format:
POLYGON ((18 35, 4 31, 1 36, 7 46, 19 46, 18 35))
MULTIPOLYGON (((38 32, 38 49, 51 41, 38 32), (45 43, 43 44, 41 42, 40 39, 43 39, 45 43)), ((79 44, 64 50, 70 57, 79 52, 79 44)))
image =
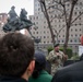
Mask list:
POLYGON ((42 63, 46 63, 46 57, 45 54, 43 51, 35 51, 35 60, 37 62, 42 63))

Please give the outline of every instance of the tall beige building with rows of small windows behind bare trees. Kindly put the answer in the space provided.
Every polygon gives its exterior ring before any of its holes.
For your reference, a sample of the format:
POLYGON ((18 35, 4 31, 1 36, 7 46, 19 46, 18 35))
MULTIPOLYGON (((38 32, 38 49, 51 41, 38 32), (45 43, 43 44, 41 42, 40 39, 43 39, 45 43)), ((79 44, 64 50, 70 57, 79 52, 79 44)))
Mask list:
MULTIPOLYGON (((76 17, 83 11, 83 8, 81 7, 83 4, 83 1, 80 0, 79 5, 75 5, 74 12, 73 12, 73 17, 76 17)), ((49 1, 47 2, 48 5, 49 1)), ((69 9, 71 8, 71 4, 69 2, 67 3, 67 10, 70 11, 69 9)), ((52 11, 52 9, 50 10, 52 11)), ((58 15, 59 12, 55 11, 55 13, 58 15)), ((55 14, 51 13, 49 15, 50 20, 54 19, 55 14)), ((34 0, 34 15, 29 15, 29 20, 35 23, 35 26, 32 26, 32 34, 36 38, 40 38, 40 43, 38 46, 40 48, 47 48, 48 46, 52 46, 51 43, 51 35, 50 31, 48 28, 47 21, 42 12, 40 4, 38 0, 34 0)), ((66 22, 64 19, 54 19, 51 20, 51 25, 52 25, 52 31, 55 33, 55 39, 57 42, 57 34, 56 31, 59 33, 58 34, 58 42, 61 44, 60 46, 63 46, 64 39, 66 39, 66 22)), ((79 51, 79 46, 80 46, 80 36, 83 35, 83 15, 81 15, 71 26, 70 28, 70 36, 69 36, 69 47, 72 48, 73 52, 79 51)))

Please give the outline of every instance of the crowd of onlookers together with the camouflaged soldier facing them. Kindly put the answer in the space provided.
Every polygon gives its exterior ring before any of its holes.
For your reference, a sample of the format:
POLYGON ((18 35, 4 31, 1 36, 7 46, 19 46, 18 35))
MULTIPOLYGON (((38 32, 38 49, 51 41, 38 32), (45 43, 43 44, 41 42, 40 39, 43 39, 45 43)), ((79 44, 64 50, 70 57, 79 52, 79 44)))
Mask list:
POLYGON ((8 33, 0 38, 0 82, 83 82, 83 61, 63 67, 67 55, 54 46, 47 59, 35 50, 34 40, 21 33, 8 33), (46 71, 47 60, 51 74, 46 71))

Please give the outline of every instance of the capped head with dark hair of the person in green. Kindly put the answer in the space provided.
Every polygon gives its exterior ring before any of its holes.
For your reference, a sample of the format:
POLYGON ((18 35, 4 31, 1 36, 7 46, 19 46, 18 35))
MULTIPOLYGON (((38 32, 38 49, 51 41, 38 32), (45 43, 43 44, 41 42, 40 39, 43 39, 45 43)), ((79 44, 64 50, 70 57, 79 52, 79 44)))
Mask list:
POLYGON ((32 77, 34 79, 37 79, 40 71, 45 70, 45 68, 46 68, 46 57, 44 51, 39 51, 39 50, 35 51, 35 69, 32 77))

